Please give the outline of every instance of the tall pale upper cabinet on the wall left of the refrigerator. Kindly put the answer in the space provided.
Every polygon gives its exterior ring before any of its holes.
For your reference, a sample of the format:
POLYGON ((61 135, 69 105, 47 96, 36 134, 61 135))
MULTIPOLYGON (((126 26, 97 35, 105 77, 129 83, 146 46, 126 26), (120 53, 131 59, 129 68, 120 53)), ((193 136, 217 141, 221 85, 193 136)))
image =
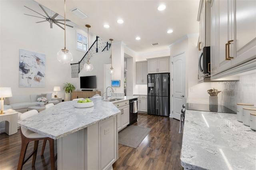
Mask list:
POLYGON ((136 62, 136 83, 147 84, 148 61, 136 62))

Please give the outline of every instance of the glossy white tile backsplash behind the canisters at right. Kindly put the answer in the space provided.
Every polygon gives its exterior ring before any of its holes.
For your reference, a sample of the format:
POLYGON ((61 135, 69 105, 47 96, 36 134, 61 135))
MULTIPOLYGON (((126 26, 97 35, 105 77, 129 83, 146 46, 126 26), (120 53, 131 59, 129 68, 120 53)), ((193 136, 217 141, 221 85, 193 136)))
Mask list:
POLYGON ((240 76, 239 81, 221 82, 219 104, 236 111, 236 103, 254 104, 256 107, 256 73, 240 76))

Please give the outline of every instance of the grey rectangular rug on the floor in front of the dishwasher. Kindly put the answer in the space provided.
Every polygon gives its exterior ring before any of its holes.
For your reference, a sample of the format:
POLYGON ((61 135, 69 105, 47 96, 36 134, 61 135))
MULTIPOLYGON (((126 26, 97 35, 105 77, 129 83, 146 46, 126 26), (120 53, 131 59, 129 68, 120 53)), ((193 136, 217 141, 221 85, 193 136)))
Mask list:
POLYGON ((118 144, 136 149, 150 130, 151 128, 130 125, 118 132, 118 144))

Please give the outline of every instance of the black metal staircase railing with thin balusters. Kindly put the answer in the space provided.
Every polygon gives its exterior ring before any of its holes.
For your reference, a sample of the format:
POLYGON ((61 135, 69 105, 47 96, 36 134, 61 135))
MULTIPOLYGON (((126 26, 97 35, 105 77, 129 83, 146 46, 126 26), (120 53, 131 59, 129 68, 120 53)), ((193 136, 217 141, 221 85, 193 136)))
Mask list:
POLYGON ((99 51, 108 51, 111 44, 106 40, 96 36, 96 40, 92 43, 91 47, 85 53, 84 57, 78 61, 78 63, 71 63, 71 77, 77 78, 78 73, 83 69, 84 64, 87 63, 88 59, 90 60, 95 53, 99 51))

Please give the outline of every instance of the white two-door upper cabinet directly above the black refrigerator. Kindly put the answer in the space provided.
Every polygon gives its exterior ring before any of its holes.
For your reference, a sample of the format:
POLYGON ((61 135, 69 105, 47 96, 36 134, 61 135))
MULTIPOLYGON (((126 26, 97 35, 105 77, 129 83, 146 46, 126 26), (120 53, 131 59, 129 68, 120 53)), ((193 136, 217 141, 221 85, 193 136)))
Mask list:
POLYGON ((170 73, 170 57, 151 58, 148 60, 148 74, 170 73))

